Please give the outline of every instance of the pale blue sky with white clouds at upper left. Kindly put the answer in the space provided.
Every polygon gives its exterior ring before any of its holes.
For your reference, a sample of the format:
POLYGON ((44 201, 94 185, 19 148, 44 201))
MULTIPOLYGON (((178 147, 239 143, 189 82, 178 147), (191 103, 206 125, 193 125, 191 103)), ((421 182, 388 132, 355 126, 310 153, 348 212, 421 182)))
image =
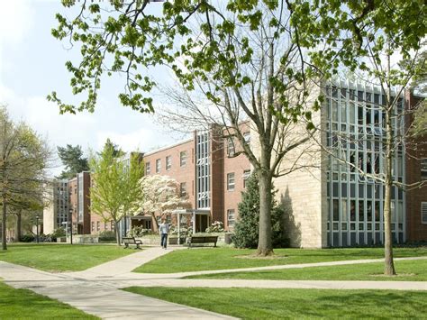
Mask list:
POLYGON ((50 35, 56 13, 73 16, 59 0, 0 1, 0 104, 8 105, 12 117, 29 123, 55 149, 70 143, 98 150, 108 137, 124 151, 150 151, 176 142, 152 115, 120 105, 120 78, 104 80, 95 113, 59 114, 46 96, 55 90, 63 100, 77 102, 64 66, 77 52, 50 35))

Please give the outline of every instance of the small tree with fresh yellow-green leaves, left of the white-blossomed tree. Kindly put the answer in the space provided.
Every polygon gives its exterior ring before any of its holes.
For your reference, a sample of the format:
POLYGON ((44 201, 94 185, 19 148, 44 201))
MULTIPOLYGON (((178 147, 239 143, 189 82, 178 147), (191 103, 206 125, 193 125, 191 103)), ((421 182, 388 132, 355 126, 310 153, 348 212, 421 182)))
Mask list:
POLYGON ((139 153, 115 157, 114 147, 106 143, 100 154, 93 154, 90 169, 93 175, 90 187, 91 212, 104 221, 114 221, 117 245, 120 245, 119 222, 136 210, 141 201, 140 179, 144 166, 139 153))

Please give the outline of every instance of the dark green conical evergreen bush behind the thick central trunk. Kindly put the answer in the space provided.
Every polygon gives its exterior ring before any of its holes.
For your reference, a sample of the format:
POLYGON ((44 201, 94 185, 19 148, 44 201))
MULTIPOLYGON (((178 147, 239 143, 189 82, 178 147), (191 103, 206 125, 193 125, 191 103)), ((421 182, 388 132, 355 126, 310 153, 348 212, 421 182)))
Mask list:
MULTIPOLYGON (((284 208, 277 206, 276 191, 271 191, 271 229, 272 242, 275 248, 286 247, 284 237, 283 216, 284 208)), ((241 203, 238 205, 239 219, 234 225, 232 242, 237 248, 257 248, 259 241, 259 183, 253 173, 247 182, 246 191, 241 193, 241 203)), ((287 245, 286 245, 287 244, 287 245)))

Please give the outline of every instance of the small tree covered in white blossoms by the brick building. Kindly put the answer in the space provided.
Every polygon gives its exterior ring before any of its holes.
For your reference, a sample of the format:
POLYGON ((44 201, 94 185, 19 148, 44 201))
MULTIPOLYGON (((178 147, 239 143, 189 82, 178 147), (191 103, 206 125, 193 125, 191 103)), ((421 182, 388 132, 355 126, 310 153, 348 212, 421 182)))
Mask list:
POLYGON ((138 211, 150 214, 157 229, 159 229, 157 213, 170 212, 178 206, 189 206, 188 200, 180 197, 177 180, 174 178, 159 175, 143 177, 141 178, 141 190, 143 197, 138 211))

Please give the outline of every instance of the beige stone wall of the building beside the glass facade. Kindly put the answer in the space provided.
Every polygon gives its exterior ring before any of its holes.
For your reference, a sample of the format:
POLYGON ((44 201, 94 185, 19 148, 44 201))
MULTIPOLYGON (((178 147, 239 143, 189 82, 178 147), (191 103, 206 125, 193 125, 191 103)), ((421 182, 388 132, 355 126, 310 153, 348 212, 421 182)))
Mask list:
MULTIPOLYGON (((307 108, 313 105, 319 89, 313 89, 307 101, 307 108)), ((279 168, 281 177, 274 178, 274 186, 278 189, 277 201, 286 208, 286 233, 291 246, 302 248, 320 248, 327 245, 327 199, 326 174, 322 161, 323 152, 318 146, 324 137, 325 115, 313 113, 313 123, 319 126, 319 131, 313 139, 286 154, 279 168), (324 213, 324 214, 323 214, 324 213)), ((299 141, 307 135, 306 123, 297 123, 286 128, 287 145, 299 141)), ((257 133, 251 133, 255 136, 257 133)), ((255 141, 256 139, 254 139, 255 141)), ((259 146, 254 145, 254 150, 259 146)), ((259 152, 259 151, 258 151, 259 152)))

